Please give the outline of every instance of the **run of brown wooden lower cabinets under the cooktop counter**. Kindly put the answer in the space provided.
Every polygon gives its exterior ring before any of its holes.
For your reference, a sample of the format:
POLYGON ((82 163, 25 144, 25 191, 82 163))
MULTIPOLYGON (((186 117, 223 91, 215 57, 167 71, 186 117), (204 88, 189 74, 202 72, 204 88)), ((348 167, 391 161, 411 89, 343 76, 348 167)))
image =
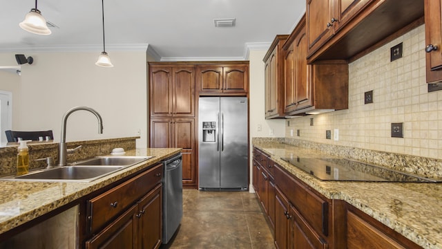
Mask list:
POLYGON ((267 169, 253 169, 253 177, 260 173, 257 196, 273 225, 276 248, 420 248, 353 205, 325 198, 274 162, 273 192, 267 169))

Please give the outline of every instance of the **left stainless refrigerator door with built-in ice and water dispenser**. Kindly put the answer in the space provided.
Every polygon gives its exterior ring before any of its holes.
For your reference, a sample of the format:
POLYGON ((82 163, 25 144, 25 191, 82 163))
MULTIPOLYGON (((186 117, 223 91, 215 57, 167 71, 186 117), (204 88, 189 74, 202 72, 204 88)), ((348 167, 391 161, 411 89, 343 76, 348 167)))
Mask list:
POLYGON ((200 98, 198 170, 200 189, 220 187, 220 98, 200 98))

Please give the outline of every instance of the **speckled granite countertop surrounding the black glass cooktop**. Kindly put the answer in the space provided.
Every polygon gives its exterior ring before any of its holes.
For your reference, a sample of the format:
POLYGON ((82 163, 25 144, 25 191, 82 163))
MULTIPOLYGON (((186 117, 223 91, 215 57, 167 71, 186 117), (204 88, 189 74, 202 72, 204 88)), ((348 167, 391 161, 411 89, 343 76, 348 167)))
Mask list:
POLYGON ((254 142, 253 146, 327 198, 354 205, 423 248, 442 248, 441 183, 320 181, 280 159, 325 156, 320 151, 279 142, 254 142))

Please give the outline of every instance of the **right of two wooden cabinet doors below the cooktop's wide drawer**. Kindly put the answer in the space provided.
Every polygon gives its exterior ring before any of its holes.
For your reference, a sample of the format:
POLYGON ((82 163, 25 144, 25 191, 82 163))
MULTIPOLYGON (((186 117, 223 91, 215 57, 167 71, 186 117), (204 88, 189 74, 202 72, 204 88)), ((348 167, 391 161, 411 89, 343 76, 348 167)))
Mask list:
POLYGON ((290 206, 290 220, 290 248, 328 248, 327 241, 318 236, 292 205, 290 206))

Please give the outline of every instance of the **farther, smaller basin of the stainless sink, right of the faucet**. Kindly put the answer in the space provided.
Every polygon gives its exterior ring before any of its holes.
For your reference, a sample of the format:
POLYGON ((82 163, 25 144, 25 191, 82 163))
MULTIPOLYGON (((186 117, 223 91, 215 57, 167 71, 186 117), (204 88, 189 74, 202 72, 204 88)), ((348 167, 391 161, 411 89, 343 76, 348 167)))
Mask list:
POLYGON ((152 158, 152 156, 95 156, 95 158, 81 160, 70 165, 129 166, 141 163, 149 158, 152 158))

